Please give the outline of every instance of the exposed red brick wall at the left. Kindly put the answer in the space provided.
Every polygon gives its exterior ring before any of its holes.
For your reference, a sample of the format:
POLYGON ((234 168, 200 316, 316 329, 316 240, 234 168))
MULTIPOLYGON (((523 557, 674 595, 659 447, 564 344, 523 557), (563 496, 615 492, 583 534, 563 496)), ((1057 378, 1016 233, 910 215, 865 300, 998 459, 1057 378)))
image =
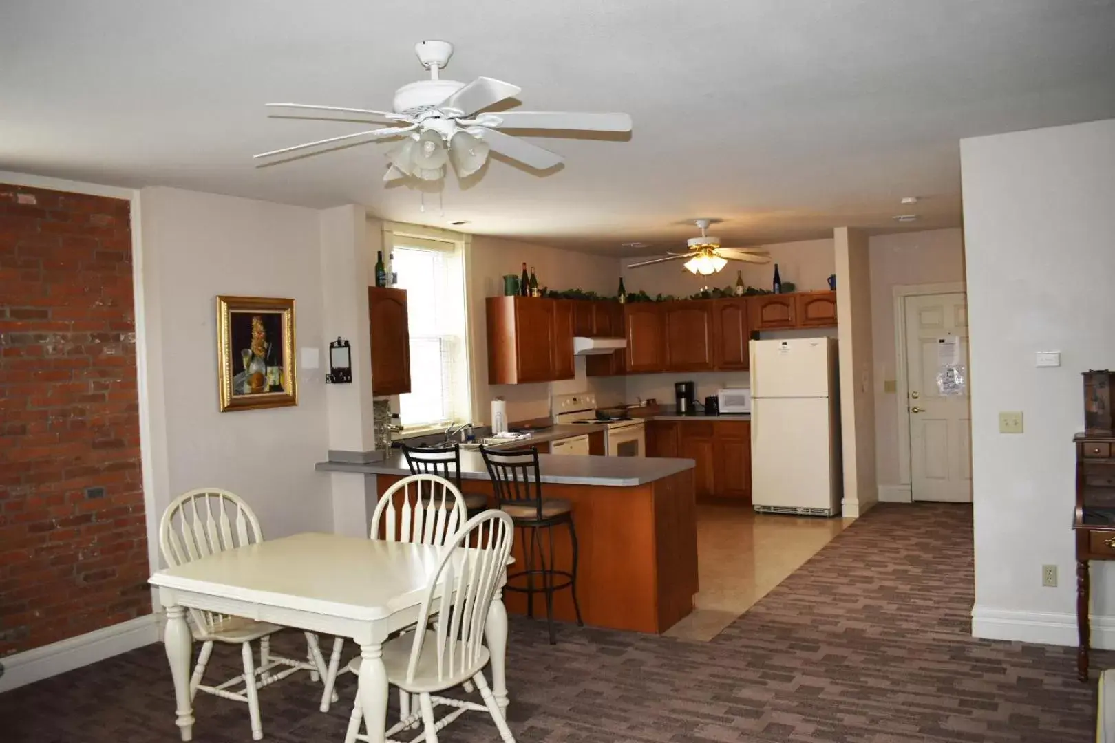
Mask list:
POLYGON ((152 610, 128 212, 0 184, 0 656, 152 610))

